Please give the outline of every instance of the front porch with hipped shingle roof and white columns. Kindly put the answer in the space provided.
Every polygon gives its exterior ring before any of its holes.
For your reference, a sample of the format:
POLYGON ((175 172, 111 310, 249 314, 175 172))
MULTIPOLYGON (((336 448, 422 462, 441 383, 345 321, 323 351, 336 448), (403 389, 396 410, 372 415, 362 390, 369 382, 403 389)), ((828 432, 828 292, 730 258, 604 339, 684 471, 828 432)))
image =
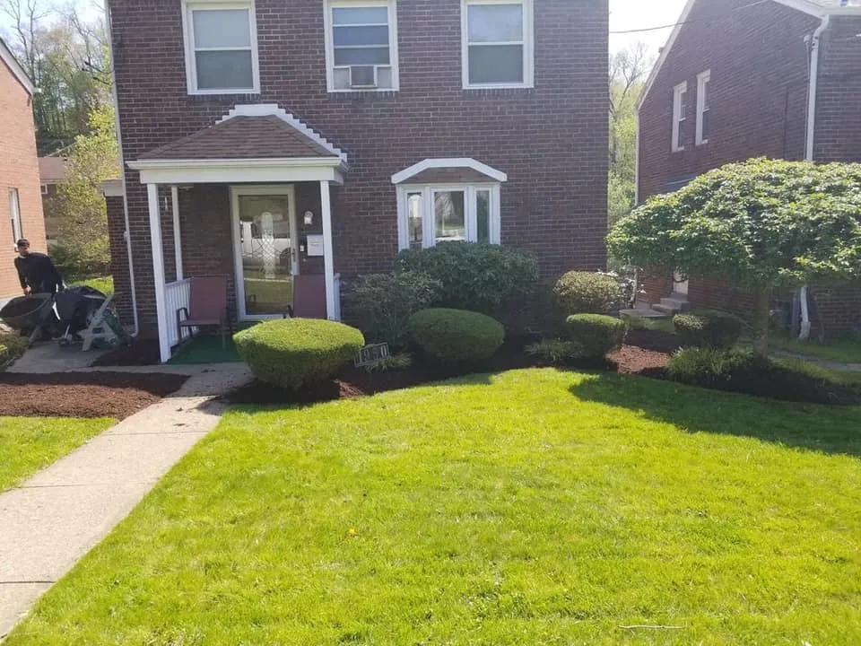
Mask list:
POLYGON ((332 190, 344 153, 274 106, 238 106, 129 166, 147 189, 162 362, 188 334, 177 312, 190 308, 196 276, 229 277, 234 321, 281 318, 293 305, 297 316, 340 320, 332 190))

